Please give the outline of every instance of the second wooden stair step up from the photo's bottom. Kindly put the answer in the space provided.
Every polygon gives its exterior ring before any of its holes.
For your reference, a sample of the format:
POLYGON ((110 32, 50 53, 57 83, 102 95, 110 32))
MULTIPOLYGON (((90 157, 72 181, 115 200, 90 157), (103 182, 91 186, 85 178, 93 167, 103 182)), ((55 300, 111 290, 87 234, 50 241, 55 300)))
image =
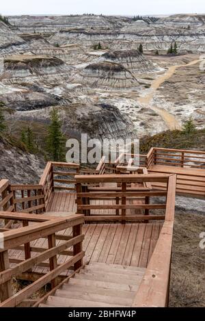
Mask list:
MULTIPOLYGON (((115 293, 116 295, 116 293, 115 293)), ((109 303, 111 305, 123 305, 124 307, 131 307, 133 300, 129 298, 119 298, 119 296, 109 296, 109 294, 102 295, 97 293, 87 292, 86 289, 83 291, 70 290, 68 287, 67 290, 57 290, 55 296, 60 296, 62 298, 77 298, 79 300, 89 300, 94 302, 109 303)))

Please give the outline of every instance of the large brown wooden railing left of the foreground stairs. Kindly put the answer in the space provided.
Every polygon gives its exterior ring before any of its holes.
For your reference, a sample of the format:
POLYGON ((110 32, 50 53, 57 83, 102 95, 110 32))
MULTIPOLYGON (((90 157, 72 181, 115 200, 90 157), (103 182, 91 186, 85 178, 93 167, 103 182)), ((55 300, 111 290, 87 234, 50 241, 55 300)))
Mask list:
MULTIPOLYGON (((83 216, 70 215, 69 218, 53 218, 48 216, 33 216, 25 213, 0 212, 0 219, 18 220, 25 227, 3 231, 3 247, 0 248, 0 307, 16 307, 34 292, 44 285, 51 283, 55 288, 61 279, 70 277, 68 270, 79 271, 83 266, 82 251, 82 224, 83 216), (65 242, 56 243, 59 240, 59 232, 72 227, 72 236, 65 242), (47 248, 37 247, 38 240, 47 239, 47 248), (68 248, 72 247, 72 251, 68 248), (24 251, 25 259, 10 260, 11 250, 24 251), (31 253, 35 255, 31 255, 31 253), (59 260, 59 255, 65 255, 66 260, 59 260), (49 263, 45 263, 49 261, 49 263), (10 263, 16 265, 11 268, 10 263), (16 294, 12 294, 12 278, 20 279, 22 274, 31 276, 33 267, 44 266, 49 268, 45 274, 40 274, 38 279, 27 285, 16 294)), ((73 273, 71 274, 73 275, 73 273)), ((32 278, 29 277, 31 280, 32 278)))

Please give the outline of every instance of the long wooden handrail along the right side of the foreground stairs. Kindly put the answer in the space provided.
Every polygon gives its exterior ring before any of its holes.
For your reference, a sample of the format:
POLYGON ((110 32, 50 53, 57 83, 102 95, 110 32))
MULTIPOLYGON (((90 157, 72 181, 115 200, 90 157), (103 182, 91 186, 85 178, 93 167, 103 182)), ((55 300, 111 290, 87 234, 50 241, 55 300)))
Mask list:
POLYGON ((139 285, 133 307, 167 307, 169 303, 175 195, 176 175, 170 175, 167 182, 165 222, 139 285))

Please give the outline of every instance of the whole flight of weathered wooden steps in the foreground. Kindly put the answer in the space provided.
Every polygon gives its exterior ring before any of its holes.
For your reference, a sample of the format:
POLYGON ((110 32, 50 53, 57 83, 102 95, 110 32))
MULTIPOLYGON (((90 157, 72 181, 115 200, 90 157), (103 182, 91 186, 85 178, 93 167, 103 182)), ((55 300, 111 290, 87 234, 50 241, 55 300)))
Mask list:
POLYGON ((145 271, 90 263, 39 307, 131 307, 145 271))

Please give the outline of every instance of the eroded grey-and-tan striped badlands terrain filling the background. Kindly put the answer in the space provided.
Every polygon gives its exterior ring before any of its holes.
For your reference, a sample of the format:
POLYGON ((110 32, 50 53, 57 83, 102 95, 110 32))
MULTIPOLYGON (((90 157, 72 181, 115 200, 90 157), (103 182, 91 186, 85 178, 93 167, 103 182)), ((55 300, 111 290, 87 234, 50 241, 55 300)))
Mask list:
POLYGON ((189 116, 204 127, 205 16, 8 21, 0 21, 0 101, 13 111, 12 133, 27 123, 43 133, 51 107, 68 137, 141 138, 181 129, 189 116), (178 55, 167 55, 174 42, 178 55))

